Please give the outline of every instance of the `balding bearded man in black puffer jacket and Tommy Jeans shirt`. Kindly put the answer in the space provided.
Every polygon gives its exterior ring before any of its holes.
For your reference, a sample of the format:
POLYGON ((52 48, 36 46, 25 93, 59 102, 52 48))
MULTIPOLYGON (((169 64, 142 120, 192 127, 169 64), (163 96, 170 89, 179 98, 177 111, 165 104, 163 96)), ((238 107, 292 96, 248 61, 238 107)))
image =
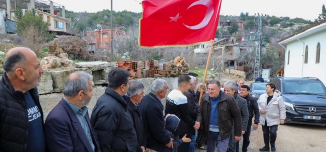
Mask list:
POLYGON ((8 51, 0 80, 0 151, 45 151, 37 86, 44 72, 28 48, 8 51))

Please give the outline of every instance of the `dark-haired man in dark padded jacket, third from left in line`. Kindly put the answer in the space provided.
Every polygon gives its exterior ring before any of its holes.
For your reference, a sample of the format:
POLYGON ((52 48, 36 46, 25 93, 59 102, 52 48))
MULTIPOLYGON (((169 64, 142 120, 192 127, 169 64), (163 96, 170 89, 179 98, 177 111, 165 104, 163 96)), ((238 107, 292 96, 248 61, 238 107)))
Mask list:
POLYGON ((97 134, 101 151, 134 152, 138 149, 137 135, 127 110, 130 73, 121 68, 108 72, 108 87, 97 99, 91 124, 97 134))

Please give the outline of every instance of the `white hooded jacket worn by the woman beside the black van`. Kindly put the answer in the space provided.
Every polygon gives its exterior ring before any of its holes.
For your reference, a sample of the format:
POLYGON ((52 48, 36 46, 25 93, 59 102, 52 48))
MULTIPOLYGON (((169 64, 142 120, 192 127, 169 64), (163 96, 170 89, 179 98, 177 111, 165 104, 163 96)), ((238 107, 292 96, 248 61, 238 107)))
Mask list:
POLYGON ((264 93, 258 99, 259 111, 261 109, 266 111, 265 114, 260 113, 259 121, 263 126, 265 125, 265 120, 267 121, 267 126, 279 125, 281 119, 285 120, 286 118, 285 104, 281 92, 275 90, 273 98, 271 98, 268 105, 266 105, 267 97, 268 94, 264 93))

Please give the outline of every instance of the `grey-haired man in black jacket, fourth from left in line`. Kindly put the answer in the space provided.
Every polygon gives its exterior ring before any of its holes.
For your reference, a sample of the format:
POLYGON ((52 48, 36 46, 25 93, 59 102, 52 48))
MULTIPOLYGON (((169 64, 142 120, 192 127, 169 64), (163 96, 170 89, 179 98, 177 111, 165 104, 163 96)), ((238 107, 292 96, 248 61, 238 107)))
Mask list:
POLYGON ((137 151, 145 152, 146 147, 146 135, 144 131, 144 124, 142 121, 141 111, 139 108, 139 103, 141 99, 144 97, 144 85, 138 81, 130 81, 129 89, 127 92, 127 96, 130 97, 130 101, 128 102, 128 111, 133 120, 133 128, 137 134, 137 141, 140 145, 140 149, 137 151))

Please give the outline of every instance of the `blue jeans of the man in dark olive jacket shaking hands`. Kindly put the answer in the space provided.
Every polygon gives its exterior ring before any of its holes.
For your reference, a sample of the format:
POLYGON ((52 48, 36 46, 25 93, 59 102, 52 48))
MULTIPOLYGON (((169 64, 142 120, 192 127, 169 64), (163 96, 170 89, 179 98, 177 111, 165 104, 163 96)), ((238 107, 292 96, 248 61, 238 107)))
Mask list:
POLYGON ((218 143, 218 152, 226 152, 229 145, 229 138, 221 140, 220 132, 209 131, 208 138, 206 139, 207 152, 215 152, 216 142, 218 143))

